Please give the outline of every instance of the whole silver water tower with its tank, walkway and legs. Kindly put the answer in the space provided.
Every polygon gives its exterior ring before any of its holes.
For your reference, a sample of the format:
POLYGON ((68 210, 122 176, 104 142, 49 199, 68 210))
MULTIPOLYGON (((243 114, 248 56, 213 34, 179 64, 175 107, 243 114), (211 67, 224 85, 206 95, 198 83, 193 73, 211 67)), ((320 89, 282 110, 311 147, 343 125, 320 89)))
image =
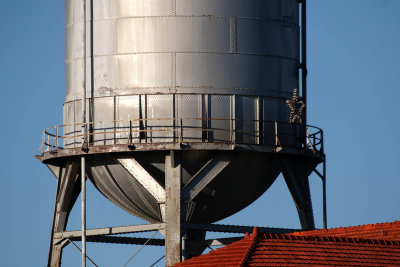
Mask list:
POLYGON ((305 2, 65 0, 64 122, 38 155, 58 179, 49 266, 70 240, 85 257, 86 241, 140 243, 113 234, 150 230, 168 266, 198 255, 206 231, 248 231, 212 223, 281 173, 314 228, 308 176, 325 181, 325 157, 306 124, 305 2), (86 230, 86 178, 149 224, 86 230), (66 232, 81 193, 82 231, 66 232))

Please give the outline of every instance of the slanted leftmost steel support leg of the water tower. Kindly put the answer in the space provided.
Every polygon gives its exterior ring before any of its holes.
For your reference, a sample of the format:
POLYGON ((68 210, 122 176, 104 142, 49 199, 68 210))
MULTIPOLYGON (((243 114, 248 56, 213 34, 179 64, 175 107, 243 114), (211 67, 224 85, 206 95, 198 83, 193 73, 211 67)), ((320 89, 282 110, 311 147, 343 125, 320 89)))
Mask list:
POLYGON ((55 238, 55 234, 65 231, 69 214, 79 193, 79 163, 69 162, 60 168, 58 175, 48 267, 59 267, 61 265, 62 249, 66 243, 55 238))

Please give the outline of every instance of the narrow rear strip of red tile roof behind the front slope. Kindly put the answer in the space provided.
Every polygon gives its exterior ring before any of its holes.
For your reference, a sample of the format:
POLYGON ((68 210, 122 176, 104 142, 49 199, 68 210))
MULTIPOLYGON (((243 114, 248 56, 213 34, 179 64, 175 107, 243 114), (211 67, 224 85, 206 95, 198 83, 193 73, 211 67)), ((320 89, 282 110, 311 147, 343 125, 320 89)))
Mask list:
POLYGON ((400 241, 400 221, 359 226, 295 232, 297 236, 343 236, 364 239, 383 239, 400 241))

